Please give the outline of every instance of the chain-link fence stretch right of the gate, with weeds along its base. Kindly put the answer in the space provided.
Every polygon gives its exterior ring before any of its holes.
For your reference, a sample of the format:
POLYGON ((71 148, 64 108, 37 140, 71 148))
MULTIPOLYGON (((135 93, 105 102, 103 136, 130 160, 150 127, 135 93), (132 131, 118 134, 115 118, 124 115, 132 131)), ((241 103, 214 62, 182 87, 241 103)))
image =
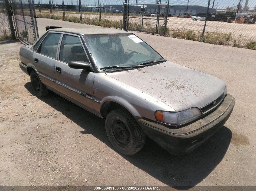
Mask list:
POLYGON ((174 0, 167 27, 175 38, 244 47, 256 40, 255 10, 250 0, 174 0))

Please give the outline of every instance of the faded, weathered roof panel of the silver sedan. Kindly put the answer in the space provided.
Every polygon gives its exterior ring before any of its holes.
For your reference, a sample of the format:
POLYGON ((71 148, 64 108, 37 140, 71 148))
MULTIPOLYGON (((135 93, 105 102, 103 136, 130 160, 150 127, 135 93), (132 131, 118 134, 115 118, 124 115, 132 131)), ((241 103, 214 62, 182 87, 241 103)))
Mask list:
POLYGON ((128 34, 125 30, 107 29, 107 28, 56 28, 48 31, 59 31, 76 34, 128 34))

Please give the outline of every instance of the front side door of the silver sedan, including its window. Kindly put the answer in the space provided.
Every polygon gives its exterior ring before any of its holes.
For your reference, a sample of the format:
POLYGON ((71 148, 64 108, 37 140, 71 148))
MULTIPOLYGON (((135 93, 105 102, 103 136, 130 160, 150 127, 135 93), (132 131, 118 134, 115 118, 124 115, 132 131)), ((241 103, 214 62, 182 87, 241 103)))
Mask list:
POLYGON ((95 73, 68 67, 68 62, 90 62, 79 35, 63 33, 55 62, 56 90, 88 110, 94 109, 93 81, 95 73))

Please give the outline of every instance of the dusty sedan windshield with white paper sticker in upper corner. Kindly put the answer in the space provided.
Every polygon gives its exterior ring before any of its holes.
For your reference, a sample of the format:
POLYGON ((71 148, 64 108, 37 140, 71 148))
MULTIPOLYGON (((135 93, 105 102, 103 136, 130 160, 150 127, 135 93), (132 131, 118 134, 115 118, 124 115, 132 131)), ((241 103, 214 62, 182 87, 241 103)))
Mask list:
POLYGON ((163 60, 148 44, 133 34, 84 35, 97 68, 135 66, 163 60))

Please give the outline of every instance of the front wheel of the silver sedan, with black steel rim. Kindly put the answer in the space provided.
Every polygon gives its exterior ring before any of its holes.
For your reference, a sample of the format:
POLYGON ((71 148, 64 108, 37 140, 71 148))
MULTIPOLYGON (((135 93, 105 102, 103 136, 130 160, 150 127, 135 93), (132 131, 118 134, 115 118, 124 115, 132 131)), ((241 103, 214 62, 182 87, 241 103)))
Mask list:
POLYGON ((126 110, 118 109, 109 112, 105 128, 111 144, 122 154, 135 154, 145 144, 146 135, 126 110))

